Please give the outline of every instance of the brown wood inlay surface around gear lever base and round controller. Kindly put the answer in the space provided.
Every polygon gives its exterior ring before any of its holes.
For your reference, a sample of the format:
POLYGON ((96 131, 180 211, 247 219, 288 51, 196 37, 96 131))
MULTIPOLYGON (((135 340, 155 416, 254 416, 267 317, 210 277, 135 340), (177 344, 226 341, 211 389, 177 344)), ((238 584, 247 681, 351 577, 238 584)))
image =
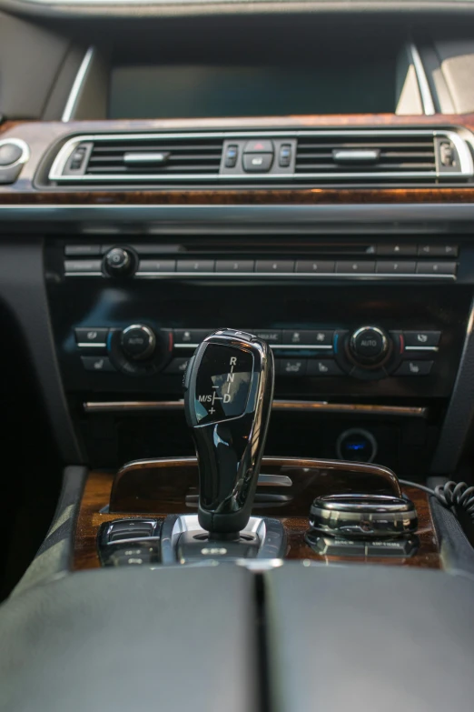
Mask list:
MULTIPOLYGON (((268 467, 265 468, 265 471, 268 471, 268 467)), ((121 516, 151 516, 150 510, 142 513, 134 512, 133 514, 101 514, 100 510, 109 503, 113 482, 113 474, 101 471, 91 472, 87 479, 76 526, 74 569, 97 568, 100 566, 96 552, 95 537, 99 526, 103 522, 111 521, 121 516)), ((181 490, 180 494, 163 496, 162 506, 156 506, 156 509, 159 511, 153 512, 153 516, 161 518, 172 513, 193 513, 196 511, 195 508, 186 506, 185 496, 183 497, 183 487, 178 486, 178 489, 181 490)), ((428 496, 420 490, 411 487, 404 488, 403 491, 412 499, 417 508, 419 516, 418 537, 420 538, 420 549, 414 557, 406 559, 380 557, 367 559, 367 562, 388 566, 403 565, 410 567, 439 568, 439 547, 430 515, 428 496)), ((312 496, 313 492, 311 491, 308 493, 308 501, 305 503, 305 508, 308 513, 312 496)), ((350 559, 321 557, 304 542, 304 534, 308 526, 308 516, 277 516, 277 511, 278 510, 275 511, 272 509, 259 511, 258 506, 254 507, 255 514, 281 519, 288 536, 286 558, 309 559, 326 563, 341 563, 345 561, 362 563, 365 561, 365 559, 353 557, 350 559)))

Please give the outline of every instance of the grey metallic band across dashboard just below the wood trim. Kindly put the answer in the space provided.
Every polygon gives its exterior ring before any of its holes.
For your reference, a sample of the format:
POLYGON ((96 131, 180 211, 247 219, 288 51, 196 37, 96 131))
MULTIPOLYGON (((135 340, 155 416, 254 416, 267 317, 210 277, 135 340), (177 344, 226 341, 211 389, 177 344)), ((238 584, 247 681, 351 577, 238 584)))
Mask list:
MULTIPOLYGON (((474 221, 474 203, 360 203, 337 206, 318 203, 298 206, 35 205, 31 203, 2 205, 0 203, 0 222, 37 223, 38 220, 80 222, 78 234, 103 230, 105 223, 108 232, 114 235, 119 234, 118 228, 111 224, 129 224, 133 220, 153 224, 145 227, 153 235, 161 233, 169 235, 170 230, 176 227, 185 228, 187 233, 193 233, 196 228, 205 227, 209 230, 210 226, 214 228, 217 226, 222 233, 222 223, 228 222, 228 227, 232 227, 234 231, 248 230, 249 225, 252 225, 252 229, 272 228, 272 234, 275 230, 288 232, 291 228, 293 232, 311 231, 311 235, 314 235, 315 230, 318 229, 326 234, 328 224, 331 227, 348 224, 358 228, 357 234, 367 236, 370 229, 371 235, 379 235, 380 225, 384 225, 390 230, 387 235, 397 235, 399 239, 401 230, 411 236, 413 232, 432 235, 433 230, 437 235, 449 234, 448 226, 440 225, 440 221, 453 223, 474 221), (87 224, 87 221, 90 221, 90 224, 87 224), (413 221, 418 225, 410 226, 408 232, 405 224, 413 221), (397 223, 396 226, 393 225, 394 222, 397 223), (196 223, 196 226, 191 226, 191 223, 196 223), (325 224, 323 230, 321 223, 325 224), (363 231, 362 224, 364 224, 363 231)), ((130 233, 127 232, 126 235, 130 236, 130 233)), ((452 234, 450 236, 452 239, 452 234)))

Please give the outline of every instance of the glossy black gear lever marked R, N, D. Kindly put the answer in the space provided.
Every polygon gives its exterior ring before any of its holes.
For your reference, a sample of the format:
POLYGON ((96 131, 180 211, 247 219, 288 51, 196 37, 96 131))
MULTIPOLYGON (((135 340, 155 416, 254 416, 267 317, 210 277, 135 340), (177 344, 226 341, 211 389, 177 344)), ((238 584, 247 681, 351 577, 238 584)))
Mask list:
POLYGON ((199 524, 237 536, 251 516, 272 409, 274 366, 256 336, 207 336, 183 379, 184 409, 199 462, 199 524))

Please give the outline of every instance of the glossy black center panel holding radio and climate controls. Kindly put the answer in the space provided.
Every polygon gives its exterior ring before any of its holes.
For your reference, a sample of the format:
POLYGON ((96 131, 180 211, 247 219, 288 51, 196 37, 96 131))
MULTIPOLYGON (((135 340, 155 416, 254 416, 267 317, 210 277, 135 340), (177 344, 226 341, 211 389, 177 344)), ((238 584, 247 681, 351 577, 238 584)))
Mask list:
POLYGON ((267 454, 424 476, 449 427, 473 260, 459 236, 51 239, 55 346, 90 461, 192 455, 173 436, 183 372, 205 336, 233 325, 275 359, 267 454))

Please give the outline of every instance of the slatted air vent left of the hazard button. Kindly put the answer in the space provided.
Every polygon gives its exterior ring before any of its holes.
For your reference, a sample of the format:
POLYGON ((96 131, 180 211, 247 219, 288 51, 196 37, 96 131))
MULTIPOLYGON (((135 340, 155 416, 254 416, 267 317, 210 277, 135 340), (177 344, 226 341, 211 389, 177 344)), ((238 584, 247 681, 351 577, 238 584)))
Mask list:
POLYGON ((212 180, 219 177, 222 145, 222 138, 205 134, 83 136, 67 147, 61 173, 81 182, 212 180))

